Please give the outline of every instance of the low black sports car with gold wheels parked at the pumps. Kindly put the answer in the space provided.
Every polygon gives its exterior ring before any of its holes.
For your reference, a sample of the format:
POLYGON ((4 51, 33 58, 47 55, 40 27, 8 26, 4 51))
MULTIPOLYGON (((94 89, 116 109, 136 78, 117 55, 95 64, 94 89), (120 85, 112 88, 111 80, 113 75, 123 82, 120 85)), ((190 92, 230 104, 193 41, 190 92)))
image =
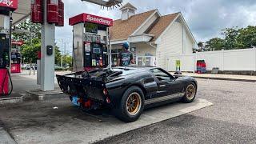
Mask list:
POLYGON ((109 106, 117 118, 134 122, 146 107, 193 102, 197 82, 159 67, 128 66, 57 75, 62 91, 82 110, 109 106))

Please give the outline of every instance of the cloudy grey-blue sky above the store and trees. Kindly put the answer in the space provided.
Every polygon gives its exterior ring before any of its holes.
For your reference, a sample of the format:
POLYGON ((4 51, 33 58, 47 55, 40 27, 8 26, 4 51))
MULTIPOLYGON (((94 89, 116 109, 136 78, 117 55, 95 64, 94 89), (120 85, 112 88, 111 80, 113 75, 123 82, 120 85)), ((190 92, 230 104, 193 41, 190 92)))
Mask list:
MULTIPOLYGON (((101 6, 81 0, 62 0, 65 3, 65 26, 56 29, 56 42, 66 52, 72 50, 72 26, 68 19, 81 13, 94 14, 106 18, 121 18, 121 11, 102 10, 101 6)), ((136 14, 158 9, 166 15, 182 12, 197 42, 222 37, 226 27, 256 26, 256 0, 123 0, 137 7, 136 14)))

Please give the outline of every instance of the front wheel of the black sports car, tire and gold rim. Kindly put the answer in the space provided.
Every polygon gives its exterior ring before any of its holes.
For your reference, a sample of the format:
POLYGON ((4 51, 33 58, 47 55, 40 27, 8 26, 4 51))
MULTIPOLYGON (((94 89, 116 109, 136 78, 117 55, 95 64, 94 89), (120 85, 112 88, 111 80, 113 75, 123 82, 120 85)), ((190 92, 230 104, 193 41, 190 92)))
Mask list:
POLYGON ((185 102, 185 103, 193 102, 196 94, 197 94, 197 87, 194 85, 194 83, 189 83, 185 88, 185 95, 182 98, 182 102, 185 102), (193 91, 191 91, 192 89, 193 91))

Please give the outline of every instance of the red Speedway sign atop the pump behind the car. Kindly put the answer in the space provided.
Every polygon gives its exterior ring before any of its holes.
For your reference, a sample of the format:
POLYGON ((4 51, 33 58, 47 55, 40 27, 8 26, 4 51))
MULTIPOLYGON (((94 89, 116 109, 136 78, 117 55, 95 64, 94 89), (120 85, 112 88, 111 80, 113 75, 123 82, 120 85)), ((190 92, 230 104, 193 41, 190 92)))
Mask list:
POLYGON ((93 14, 79 14, 73 18, 70 18, 70 25, 73 26, 80 22, 97 23, 104 26, 113 26, 113 20, 110 18, 103 18, 93 14))

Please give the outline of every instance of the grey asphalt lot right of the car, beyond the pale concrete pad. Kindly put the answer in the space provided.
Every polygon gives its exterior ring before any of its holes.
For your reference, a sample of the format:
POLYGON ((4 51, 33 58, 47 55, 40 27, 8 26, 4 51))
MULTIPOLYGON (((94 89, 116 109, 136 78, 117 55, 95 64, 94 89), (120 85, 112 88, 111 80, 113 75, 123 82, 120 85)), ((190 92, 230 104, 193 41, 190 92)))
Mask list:
POLYGON ((256 143, 256 82, 198 79, 214 106, 98 143, 256 143))

